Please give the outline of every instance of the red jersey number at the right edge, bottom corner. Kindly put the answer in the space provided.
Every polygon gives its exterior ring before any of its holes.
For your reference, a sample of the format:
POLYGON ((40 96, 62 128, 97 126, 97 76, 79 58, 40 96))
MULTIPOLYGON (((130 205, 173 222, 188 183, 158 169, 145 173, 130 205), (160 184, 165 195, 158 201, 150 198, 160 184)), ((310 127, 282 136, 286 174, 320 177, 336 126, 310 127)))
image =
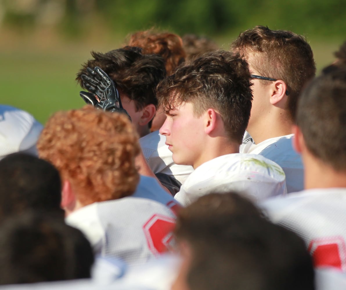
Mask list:
POLYGON ((346 271, 346 244, 343 237, 312 240, 308 250, 315 267, 332 266, 346 271))

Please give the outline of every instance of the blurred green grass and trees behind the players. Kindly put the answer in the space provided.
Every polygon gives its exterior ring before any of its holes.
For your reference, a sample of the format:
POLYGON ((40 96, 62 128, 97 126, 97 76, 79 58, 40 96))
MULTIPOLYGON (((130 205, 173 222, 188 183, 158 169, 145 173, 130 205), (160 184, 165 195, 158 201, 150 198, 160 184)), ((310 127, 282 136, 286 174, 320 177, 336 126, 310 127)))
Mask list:
POLYGON ((318 71, 346 40, 345 0, 0 0, 0 103, 40 122, 83 106, 75 74, 90 51, 108 52, 138 30, 194 33, 228 49, 256 25, 310 43, 318 71))

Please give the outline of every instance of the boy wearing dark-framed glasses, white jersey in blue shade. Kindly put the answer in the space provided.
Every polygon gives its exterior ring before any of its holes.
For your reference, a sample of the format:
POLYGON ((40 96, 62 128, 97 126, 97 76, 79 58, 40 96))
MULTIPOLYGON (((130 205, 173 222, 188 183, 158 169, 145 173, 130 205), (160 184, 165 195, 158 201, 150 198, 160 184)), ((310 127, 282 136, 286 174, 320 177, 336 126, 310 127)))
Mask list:
POLYGON ((244 56, 253 79, 251 116, 240 149, 279 164, 288 193, 303 189, 303 165, 292 147, 298 96, 315 76, 310 45, 292 31, 256 26, 242 32, 231 49, 244 56), (254 142, 254 146, 251 146, 254 142))

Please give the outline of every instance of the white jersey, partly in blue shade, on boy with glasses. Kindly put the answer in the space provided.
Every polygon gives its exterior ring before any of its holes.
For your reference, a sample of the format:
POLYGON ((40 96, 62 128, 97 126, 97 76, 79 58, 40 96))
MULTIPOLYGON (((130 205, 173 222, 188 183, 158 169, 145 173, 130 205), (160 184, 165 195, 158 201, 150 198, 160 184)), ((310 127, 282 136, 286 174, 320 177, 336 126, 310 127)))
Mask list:
POLYGON ((300 155, 294 150, 292 139, 294 134, 274 137, 258 144, 251 144, 249 135, 244 135, 240 153, 259 154, 279 164, 286 175, 287 192, 304 189, 304 171, 300 155))

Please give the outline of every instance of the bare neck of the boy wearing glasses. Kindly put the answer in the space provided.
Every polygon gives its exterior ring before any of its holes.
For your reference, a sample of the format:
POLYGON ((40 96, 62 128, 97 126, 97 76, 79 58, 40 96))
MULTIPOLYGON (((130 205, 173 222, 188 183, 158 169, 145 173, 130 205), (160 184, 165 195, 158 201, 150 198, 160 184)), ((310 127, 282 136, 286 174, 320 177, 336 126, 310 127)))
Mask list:
POLYGON ((258 144, 270 138, 292 134, 292 125, 293 122, 287 111, 277 109, 269 113, 267 118, 256 120, 255 124, 249 122, 246 130, 258 144))

